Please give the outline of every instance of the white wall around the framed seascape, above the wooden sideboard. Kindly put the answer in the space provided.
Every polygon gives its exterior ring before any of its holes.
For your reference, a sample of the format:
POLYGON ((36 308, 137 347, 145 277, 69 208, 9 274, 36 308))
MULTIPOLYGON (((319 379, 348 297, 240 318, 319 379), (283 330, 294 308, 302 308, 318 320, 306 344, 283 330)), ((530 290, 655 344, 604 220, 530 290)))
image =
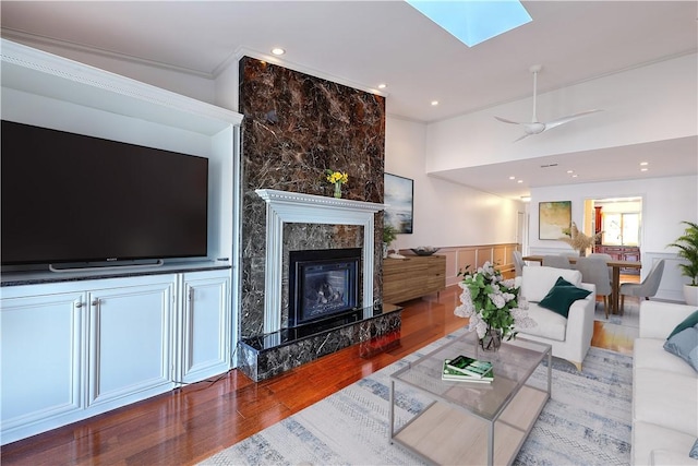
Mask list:
POLYGON ((521 203, 429 177, 426 126, 388 117, 385 127, 385 171, 414 180, 413 232, 398 235, 392 249, 516 241, 521 203))

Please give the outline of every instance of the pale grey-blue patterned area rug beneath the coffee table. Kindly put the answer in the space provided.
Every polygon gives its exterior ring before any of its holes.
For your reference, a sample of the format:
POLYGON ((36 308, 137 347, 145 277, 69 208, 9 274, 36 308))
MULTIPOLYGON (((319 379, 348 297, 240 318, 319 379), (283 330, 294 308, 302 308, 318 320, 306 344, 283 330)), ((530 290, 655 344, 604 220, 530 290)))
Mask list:
MULTIPOLYGON (((387 440, 389 375, 461 333, 428 345, 201 464, 424 464, 387 440)), ((540 386, 546 381, 543 366, 532 375, 540 386)), ((630 357, 599 348, 589 350, 581 372, 553 358, 552 397, 514 464, 630 464, 631 366, 630 357)), ((430 399, 401 384, 396 389, 395 416, 401 426, 430 399)))

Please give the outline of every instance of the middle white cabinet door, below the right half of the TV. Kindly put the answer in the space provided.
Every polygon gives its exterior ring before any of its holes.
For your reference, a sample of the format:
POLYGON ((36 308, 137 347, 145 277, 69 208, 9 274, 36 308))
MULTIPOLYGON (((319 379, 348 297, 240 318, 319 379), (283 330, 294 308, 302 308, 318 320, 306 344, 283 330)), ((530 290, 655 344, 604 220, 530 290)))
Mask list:
POLYGON ((174 278, 88 292, 89 406, 170 390, 174 278))

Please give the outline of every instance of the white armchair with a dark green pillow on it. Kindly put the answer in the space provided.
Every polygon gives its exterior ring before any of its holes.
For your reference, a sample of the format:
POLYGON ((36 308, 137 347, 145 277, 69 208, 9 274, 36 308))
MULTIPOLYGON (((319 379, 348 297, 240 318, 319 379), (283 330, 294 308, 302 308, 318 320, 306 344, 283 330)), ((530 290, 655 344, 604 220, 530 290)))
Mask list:
POLYGON ((566 359, 581 370, 593 336, 597 287, 581 283, 579 271, 547 266, 524 267, 521 276, 516 277, 516 285, 520 287, 519 296, 528 300, 529 318, 537 324, 517 328, 518 336, 551 345, 553 356, 566 359), (591 291, 585 299, 571 303, 566 319, 539 306, 561 276, 576 287, 591 291))

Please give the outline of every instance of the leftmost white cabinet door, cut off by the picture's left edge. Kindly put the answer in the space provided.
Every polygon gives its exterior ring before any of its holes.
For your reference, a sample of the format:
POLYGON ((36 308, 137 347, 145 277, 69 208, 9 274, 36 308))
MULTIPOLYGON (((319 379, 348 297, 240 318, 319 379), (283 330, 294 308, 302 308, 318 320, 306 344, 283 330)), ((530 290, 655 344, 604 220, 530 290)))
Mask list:
POLYGON ((82 292, 0 301, 3 443, 40 431, 41 421, 82 409, 84 302, 82 292), (23 427, 29 430, 20 432, 23 427))

